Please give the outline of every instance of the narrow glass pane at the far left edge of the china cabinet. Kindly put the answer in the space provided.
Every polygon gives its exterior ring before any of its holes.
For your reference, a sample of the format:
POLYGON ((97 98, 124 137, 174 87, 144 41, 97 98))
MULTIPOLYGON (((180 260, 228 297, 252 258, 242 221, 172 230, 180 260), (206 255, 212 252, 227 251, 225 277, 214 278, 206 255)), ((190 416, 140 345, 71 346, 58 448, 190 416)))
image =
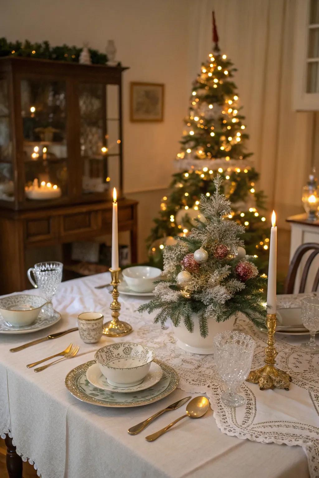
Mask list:
POLYGON ((0 78, 0 200, 14 200, 8 82, 0 78))

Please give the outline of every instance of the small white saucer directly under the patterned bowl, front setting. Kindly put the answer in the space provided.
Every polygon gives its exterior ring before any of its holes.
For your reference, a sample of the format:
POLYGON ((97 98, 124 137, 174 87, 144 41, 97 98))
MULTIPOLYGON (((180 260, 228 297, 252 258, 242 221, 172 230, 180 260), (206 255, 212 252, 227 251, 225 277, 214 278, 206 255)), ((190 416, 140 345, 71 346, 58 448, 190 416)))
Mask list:
POLYGON ((139 385, 134 385, 132 387, 114 387, 113 385, 110 385, 108 380, 101 373, 99 364, 95 363, 87 370, 87 379, 92 385, 102 390, 116 391, 121 393, 135 392, 153 387, 155 383, 161 380, 162 375, 163 370, 161 369, 160 365, 152 362, 148 374, 144 378, 143 382, 139 385))

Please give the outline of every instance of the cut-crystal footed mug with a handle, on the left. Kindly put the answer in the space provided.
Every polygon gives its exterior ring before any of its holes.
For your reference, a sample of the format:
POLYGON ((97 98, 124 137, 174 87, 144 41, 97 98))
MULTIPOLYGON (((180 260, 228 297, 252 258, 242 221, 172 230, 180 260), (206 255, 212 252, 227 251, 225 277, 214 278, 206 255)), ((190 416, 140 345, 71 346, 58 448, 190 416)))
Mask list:
POLYGON ((62 262, 48 261, 34 264, 34 267, 30 267, 27 272, 28 279, 33 287, 38 288, 47 299, 48 303, 46 307, 49 315, 53 315, 54 313, 52 297, 62 281, 62 271, 62 262), (35 281, 31 277, 31 272, 33 273, 35 281))

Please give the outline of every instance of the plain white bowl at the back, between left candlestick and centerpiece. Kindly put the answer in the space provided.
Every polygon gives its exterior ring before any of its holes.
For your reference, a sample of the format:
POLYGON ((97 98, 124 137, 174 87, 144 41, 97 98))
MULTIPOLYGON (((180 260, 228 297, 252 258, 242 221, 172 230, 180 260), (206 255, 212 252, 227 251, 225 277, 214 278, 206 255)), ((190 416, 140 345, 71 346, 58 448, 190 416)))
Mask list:
POLYGON ((160 278, 161 273, 161 269, 151 266, 127 267, 122 271, 125 282, 135 292, 153 292, 153 282, 160 278))

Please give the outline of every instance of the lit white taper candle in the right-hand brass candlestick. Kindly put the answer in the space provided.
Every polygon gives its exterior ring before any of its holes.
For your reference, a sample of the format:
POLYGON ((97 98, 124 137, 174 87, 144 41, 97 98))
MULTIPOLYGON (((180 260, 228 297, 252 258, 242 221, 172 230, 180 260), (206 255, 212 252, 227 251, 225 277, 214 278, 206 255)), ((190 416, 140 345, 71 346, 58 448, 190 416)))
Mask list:
POLYGON ((267 285, 267 309, 268 314, 276 313, 276 278, 277 278, 277 226, 275 211, 271 216, 272 228, 270 231, 269 265, 267 285))

